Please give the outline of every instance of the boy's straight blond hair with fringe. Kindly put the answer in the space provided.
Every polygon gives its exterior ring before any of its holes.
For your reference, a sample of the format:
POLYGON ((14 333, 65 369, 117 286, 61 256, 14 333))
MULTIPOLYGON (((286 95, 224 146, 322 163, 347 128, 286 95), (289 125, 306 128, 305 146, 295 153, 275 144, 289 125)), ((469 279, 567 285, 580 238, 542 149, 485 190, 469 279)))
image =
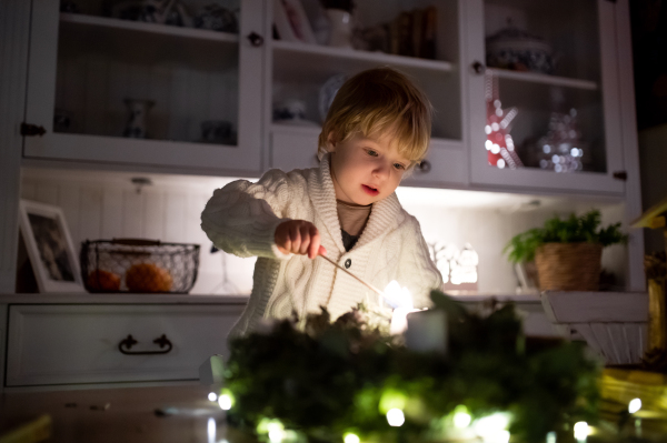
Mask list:
POLYGON ((411 164, 428 151, 432 105, 404 73, 391 68, 359 72, 347 80, 331 103, 318 140, 318 157, 328 152, 329 133, 345 142, 356 132, 372 137, 391 130, 398 152, 411 164))

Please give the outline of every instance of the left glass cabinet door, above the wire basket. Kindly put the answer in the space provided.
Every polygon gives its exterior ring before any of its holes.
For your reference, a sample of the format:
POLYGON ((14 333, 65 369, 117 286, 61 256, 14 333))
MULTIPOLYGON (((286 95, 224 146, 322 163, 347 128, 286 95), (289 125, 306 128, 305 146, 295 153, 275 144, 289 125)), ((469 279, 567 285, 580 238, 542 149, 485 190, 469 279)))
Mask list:
POLYGON ((260 169, 261 0, 33 3, 26 157, 260 169))

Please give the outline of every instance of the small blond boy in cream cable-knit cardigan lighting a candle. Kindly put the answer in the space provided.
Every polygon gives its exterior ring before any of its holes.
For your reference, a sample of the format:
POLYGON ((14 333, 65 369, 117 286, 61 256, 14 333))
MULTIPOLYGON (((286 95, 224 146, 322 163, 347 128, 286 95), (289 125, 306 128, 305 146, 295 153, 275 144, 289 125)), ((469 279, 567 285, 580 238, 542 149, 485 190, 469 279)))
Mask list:
POLYGON ((303 318, 325 306, 336 319, 379 302, 318 254, 380 290, 397 280, 416 308, 429 304, 442 278, 394 191, 426 155, 430 130, 430 102, 404 74, 364 71, 331 103, 319 168, 270 170, 257 183, 239 180, 213 192, 201 214, 208 238, 228 253, 258 256, 250 301, 231 335, 292 311, 303 318))

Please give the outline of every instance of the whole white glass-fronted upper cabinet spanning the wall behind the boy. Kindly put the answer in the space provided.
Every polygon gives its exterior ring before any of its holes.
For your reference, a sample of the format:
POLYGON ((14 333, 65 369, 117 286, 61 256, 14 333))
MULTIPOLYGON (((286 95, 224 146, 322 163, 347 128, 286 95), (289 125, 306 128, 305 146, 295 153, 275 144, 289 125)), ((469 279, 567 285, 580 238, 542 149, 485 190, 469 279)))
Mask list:
POLYGON ((238 33, 104 17, 102 0, 81 0, 81 13, 33 0, 26 122, 46 134, 27 137, 23 155, 237 177, 311 167, 325 83, 391 66, 435 108, 428 164, 406 184, 624 197, 624 179, 638 173, 627 161, 636 154, 623 103, 631 84, 617 40, 629 38, 626 1, 359 1, 354 20, 367 37, 355 44, 371 44, 370 29, 390 40, 371 52, 271 38, 279 3, 270 0, 218 0, 239 11, 238 33), (436 23, 428 37, 427 10, 436 23), (505 41, 488 40, 500 31, 505 41), (430 39, 429 53, 406 52, 406 32, 419 36, 412 49, 430 39), (549 73, 530 61, 498 62, 545 46, 549 73), (145 139, 122 137, 130 99, 153 103, 145 139), (305 107, 306 124, 273 113, 289 102, 305 107), (491 130, 496 111, 499 120, 514 115, 511 127, 491 130))

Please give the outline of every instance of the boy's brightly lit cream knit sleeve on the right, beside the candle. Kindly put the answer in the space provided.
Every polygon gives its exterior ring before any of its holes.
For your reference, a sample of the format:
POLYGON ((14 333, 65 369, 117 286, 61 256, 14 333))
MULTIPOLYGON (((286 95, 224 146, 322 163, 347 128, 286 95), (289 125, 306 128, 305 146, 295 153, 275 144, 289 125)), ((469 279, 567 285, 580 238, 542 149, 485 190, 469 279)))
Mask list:
POLYGON ((410 290, 415 308, 427 308, 431 305, 430 291, 442 289, 442 275, 430 258, 417 219, 410 215, 408 225, 409 232, 399 259, 398 281, 410 290))

